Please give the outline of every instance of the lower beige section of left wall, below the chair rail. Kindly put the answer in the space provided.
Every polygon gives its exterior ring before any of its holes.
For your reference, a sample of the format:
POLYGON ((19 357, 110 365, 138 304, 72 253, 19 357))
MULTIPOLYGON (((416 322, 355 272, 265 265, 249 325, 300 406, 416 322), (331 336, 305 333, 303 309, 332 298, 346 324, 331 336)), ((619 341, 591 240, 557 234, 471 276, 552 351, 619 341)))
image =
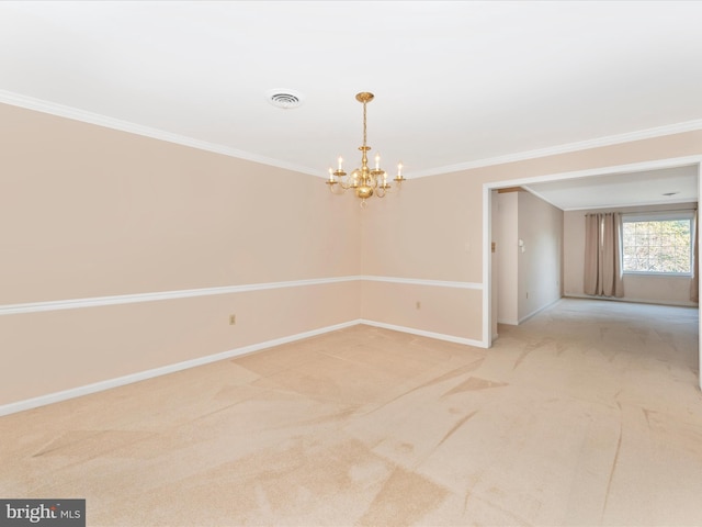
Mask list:
POLYGON ((0 316, 0 404, 332 326, 359 302, 346 282, 0 316))

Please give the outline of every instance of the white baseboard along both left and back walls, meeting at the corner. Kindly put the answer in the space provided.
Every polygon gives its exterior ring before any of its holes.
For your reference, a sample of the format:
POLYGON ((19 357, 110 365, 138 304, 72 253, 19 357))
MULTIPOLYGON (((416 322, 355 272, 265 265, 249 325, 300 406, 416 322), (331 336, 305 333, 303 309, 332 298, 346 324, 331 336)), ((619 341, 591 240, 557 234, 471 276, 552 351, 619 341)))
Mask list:
POLYGON ((420 335, 423 337, 435 338, 438 340, 448 340, 451 343, 465 344, 468 346, 476 346, 482 348, 487 347, 484 343, 480 343, 478 340, 472 340, 468 338, 454 337, 452 335, 443 335, 440 333, 424 332, 424 330, 415 329, 411 327, 395 326, 393 324, 384 324, 381 322, 373 322, 373 321, 359 318, 355 321, 349 321, 349 322, 336 324, 332 326, 320 327, 318 329, 313 329, 309 332, 298 333, 296 335, 290 335, 287 337, 275 338, 272 340, 265 340, 263 343, 258 343, 250 346, 244 346, 241 348, 230 349, 228 351, 223 351, 219 354, 208 355, 206 357, 199 357, 196 359, 185 360, 182 362, 177 362, 174 365, 168 365, 159 368, 154 368, 151 370, 139 371, 128 375, 117 377, 115 379, 107 379, 105 381, 94 382, 92 384, 86 384, 83 386, 72 388, 70 390, 63 390, 60 392, 39 395, 38 397, 26 399, 24 401, 18 401, 14 403, 0 405, 0 416, 15 414, 18 412, 24 412, 26 410, 36 408, 39 406, 46 406, 48 404, 59 403, 61 401, 67 401, 69 399, 76 399, 83 395, 89 395, 91 393, 102 392, 104 390, 111 390, 113 388, 124 386, 126 384, 132 384, 134 382, 145 381, 147 379, 152 379, 155 377, 167 375, 169 373, 186 370, 189 368, 196 368, 199 366, 208 365, 211 362, 216 362, 218 360, 231 359, 234 357, 252 354, 254 351, 260 351, 262 349, 271 348, 273 346, 294 343, 296 340, 315 337, 317 335, 336 332, 336 330, 355 326, 359 324, 367 324, 369 326, 394 329, 396 332, 409 333, 412 335, 420 335))

